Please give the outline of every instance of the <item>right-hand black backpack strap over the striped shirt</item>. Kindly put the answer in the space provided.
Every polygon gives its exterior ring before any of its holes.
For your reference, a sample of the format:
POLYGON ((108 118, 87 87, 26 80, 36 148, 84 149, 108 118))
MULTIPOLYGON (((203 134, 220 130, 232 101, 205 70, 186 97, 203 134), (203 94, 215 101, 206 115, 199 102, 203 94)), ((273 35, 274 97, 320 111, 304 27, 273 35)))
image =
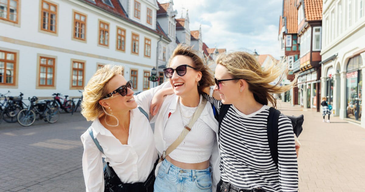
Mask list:
POLYGON ((278 163, 277 142, 279 138, 279 125, 278 125, 279 116, 280 116, 280 111, 270 107, 268 124, 267 124, 268 142, 269 142, 270 154, 276 166, 278 163))

